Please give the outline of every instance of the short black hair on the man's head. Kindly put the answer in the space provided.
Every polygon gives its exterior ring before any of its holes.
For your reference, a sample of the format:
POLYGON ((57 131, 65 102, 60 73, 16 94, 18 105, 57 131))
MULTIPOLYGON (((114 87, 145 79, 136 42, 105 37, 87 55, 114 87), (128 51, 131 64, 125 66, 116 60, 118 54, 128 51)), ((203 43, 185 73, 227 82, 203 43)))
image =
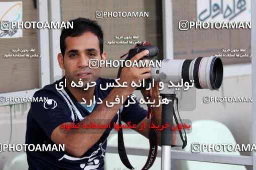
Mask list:
POLYGON ((65 55, 66 50, 66 37, 80 36, 84 32, 92 32, 98 37, 100 55, 103 53, 103 31, 101 29, 101 26, 97 23, 97 21, 79 17, 73 20, 69 20, 69 22, 73 22, 73 28, 63 28, 60 35, 60 51, 63 57, 65 55))

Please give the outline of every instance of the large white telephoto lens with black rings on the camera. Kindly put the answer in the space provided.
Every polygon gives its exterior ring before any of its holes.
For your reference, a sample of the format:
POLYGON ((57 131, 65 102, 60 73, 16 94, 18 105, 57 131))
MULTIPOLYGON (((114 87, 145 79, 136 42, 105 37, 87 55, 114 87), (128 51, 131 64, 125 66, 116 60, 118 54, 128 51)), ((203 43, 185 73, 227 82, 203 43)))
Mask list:
POLYGON ((196 88, 217 90, 223 79, 223 65, 216 56, 197 57, 195 59, 164 59, 162 66, 151 69, 151 76, 156 81, 184 82, 196 88))

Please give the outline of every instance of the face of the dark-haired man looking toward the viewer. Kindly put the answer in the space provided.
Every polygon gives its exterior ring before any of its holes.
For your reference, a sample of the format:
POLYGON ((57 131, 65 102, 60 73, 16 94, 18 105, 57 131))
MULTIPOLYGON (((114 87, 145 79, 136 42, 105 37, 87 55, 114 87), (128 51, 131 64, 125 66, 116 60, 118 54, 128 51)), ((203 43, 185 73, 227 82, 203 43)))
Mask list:
POLYGON ((85 32, 81 36, 65 39, 66 50, 64 59, 61 53, 58 55, 60 67, 65 69, 67 82, 74 81, 78 84, 79 79, 83 81, 83 87, 87 86, 87 82, 96 81, 100 74, 100 68, 89 68, 90 59, 104 59, 106 52, 100 56, 98 37, 91 32, 85 32))

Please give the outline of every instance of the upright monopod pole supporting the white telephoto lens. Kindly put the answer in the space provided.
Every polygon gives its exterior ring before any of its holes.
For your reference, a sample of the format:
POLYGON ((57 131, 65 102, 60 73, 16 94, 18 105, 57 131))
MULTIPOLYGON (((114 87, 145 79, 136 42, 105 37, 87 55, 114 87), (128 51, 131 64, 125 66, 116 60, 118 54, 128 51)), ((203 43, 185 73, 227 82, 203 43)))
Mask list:
MULTIPOLYGON (((169 124, 169 127, 173 124, 173 100, 172 98, 175 94, 160 94, 163 98, 169 100, 168 104, 162 104, 162 122, 169 124)), ((161 169, 170 170, 171 169, 171 145, 172 145, 173 132, 171 128, 165 128, 161 131, 161 169)))

